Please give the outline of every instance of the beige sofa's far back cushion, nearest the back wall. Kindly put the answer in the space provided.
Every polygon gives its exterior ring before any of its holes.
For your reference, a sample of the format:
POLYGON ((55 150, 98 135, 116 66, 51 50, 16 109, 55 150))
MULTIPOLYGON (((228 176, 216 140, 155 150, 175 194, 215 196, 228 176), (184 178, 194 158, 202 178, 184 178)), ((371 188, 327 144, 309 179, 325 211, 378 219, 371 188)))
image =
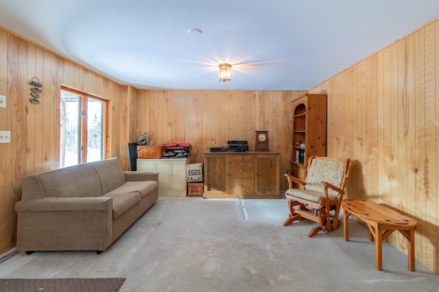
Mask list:
POLYGON ((102 194, 106 194, 125 183, 125 175, 119 163, 119 159, 112 158, 102 161, 91 162, 102 184, 102 194))

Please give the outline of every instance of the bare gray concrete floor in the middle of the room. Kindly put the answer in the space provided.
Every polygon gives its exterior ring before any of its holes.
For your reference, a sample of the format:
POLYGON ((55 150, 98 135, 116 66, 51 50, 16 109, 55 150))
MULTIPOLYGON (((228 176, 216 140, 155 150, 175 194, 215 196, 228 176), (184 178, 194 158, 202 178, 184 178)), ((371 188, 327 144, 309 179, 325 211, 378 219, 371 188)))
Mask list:
MULTIPOLYGON (((439 277, 383 243, 383 271, 365 228, 307 234, 284 227, 287 201, 159 198, 108 250, 20 252, 0 278, 124 277, 121 291, 438 291, 439 277)), ((401 235, 402 236, 402 235, 401 235)))

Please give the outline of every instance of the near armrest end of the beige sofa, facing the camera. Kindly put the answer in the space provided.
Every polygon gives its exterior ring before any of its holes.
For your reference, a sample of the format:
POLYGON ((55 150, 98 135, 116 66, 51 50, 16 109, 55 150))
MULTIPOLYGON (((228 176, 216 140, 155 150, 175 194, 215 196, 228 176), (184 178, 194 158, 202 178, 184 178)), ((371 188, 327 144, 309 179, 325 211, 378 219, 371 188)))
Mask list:
POLYGON ((103 251, 112 242, 112 198, 43 198, 21 200, 16 248, 103 251))

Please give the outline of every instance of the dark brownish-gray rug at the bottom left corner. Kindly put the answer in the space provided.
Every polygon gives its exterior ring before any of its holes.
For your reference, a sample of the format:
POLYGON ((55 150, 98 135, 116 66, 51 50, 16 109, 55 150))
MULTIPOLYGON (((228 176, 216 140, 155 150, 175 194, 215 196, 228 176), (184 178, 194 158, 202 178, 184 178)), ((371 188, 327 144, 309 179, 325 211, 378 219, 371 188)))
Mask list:
POLYGON ((0 279, 5 292, 111 292, 119 291, 125 278, 0 279))

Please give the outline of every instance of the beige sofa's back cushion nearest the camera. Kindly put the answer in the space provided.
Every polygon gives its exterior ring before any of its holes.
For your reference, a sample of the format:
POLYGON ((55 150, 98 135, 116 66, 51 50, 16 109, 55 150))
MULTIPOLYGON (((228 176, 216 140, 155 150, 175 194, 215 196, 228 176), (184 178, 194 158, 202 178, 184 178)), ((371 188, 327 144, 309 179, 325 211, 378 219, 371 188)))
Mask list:
POLYGON ((102 196, 102 185, 88 163, 36 174, 44 198, 84 198, 102 196))

